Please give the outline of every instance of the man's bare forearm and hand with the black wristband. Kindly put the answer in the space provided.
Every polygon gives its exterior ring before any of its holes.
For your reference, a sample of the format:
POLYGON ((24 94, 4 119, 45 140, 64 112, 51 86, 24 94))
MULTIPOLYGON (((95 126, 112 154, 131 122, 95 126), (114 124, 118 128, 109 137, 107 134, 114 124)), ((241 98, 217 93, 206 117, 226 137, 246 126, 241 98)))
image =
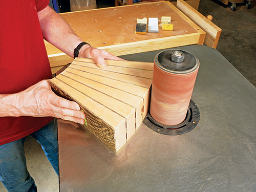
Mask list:
MULTIPOLYGON (((44 38, 59 50, 68 54, 70 57, 73 57, 74 49, 83 40, 79 38, 65 22, 65 20, 55 11, 53 11, 49 6, 38 12, 38 18, 44 38)), ((85 40, 87 41, 90 39, 85 40)), ((104 58, 122 60, 105 50, 96 49, 90 47, 89 45, 82 46, 78 56, 93 58, 96 61, 97 66, 100 68, 106 67, 104 58)))

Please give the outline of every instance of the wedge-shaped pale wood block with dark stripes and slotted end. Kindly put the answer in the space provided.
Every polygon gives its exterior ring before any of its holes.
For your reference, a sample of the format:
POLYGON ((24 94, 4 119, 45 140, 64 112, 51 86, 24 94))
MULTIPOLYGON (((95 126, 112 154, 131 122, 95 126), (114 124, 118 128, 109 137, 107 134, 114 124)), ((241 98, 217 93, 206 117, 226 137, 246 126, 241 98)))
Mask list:
POLYGON ((50 80, 55 92, 76 101, 91 133, 117 152, 136 132, 150 101, 153 63, 76 58, 50 80))

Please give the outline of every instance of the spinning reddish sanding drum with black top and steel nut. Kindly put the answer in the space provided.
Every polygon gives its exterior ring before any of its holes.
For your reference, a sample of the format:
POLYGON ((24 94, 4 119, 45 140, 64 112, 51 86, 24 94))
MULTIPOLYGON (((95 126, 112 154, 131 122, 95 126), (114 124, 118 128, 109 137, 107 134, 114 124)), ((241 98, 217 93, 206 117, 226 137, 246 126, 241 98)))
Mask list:
POLYGON ((155 56, 150 114, 156 121, 177 125, 185 119, 198 69, 198 58, 184 50, 155 56))

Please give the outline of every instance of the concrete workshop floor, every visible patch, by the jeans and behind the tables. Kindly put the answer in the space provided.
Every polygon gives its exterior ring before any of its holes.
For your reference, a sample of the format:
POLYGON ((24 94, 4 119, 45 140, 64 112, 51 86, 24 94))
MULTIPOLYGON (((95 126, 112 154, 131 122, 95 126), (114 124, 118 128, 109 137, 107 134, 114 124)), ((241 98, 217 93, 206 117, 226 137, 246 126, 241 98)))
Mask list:
MULTIPOLYGON (((114 0, 97 1, 98 7, 114 6, 114 0)), ((199 12, 212 15, 222 29, 217 50, 256 87, 256 2, 251 9, 244 5, 236 11, 211 0, 200 0, 199 12)), ((221 70, 221 69, 220 69, 221 70)), ((58 177, 40 145, 28 137, 25 142, 28 170, 39 192, 58 191, 58 177)), ((0 191, 6 192, 2 183, 0 191)))

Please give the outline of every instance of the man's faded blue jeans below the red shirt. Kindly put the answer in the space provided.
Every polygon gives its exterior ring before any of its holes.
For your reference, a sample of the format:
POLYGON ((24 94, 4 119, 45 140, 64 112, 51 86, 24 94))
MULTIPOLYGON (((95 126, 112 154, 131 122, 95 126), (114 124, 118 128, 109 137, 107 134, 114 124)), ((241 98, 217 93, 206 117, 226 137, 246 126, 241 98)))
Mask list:
MULTIPOLYGON (((57 119, 30 135, 41 144, 58 175, 57 119)), ((37 191, 35 181, 27 169, 24 152, 25 139, 26 137, 0 145, 0 180, 8 191, 37 191)))

